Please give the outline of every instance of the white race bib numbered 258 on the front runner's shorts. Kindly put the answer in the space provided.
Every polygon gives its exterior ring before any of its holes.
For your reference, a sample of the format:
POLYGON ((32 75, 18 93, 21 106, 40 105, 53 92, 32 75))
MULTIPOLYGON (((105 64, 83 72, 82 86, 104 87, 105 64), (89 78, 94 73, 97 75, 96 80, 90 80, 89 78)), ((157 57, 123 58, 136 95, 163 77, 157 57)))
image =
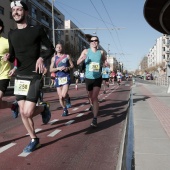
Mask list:
POLYGON ((17 80, 15 79, 14 94, 27 96, 30 87, 29 80, 17 80))

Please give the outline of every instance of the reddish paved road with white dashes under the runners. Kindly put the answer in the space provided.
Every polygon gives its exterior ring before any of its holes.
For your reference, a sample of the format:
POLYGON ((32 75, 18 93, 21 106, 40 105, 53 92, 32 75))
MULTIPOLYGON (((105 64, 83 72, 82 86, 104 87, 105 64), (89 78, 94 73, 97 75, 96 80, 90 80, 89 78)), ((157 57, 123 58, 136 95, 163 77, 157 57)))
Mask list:
MULTIPOLYGON (((45 101, 51 104, 52 118, 47 125, 36 116, 35 128, 41 147, 31 154, 22 149, 29 137, 20 116, 11 117, 10 109, 0 110, 0 169, 2 170, 114 170, 118 163, 122 133, 125 126, 131 81, 110 86, 107 94, 101 90, 98 128, 89 125, 92 113, 85 86, 75 91, 70 87, 72 108, 68 117, 61 117, 62 109, 54 89, 46 89, 45 101)), ((13 101, 7 93, 4 98, 13 101)))

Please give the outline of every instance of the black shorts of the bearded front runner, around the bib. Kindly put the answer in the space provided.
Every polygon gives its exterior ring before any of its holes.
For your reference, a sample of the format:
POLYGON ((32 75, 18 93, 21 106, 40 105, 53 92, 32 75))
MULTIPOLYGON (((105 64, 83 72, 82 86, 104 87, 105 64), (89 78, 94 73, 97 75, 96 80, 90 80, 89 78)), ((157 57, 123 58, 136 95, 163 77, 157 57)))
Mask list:
POLYGON ((16 100, 17 101, 27 100, 30 102, 37 103, 39 94, 40 94, 40 90, 42 89, 42 76, 41 75, 18 76, 17 75, 16 79, 31 81, 27 96, 16 95, 16 100))

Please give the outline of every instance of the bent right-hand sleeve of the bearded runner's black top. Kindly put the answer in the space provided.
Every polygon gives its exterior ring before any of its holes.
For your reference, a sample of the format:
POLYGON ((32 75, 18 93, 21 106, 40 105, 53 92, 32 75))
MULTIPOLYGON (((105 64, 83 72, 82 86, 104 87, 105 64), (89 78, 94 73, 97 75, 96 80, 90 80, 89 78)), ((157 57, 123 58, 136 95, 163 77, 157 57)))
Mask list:
POLYGON ((41 37, 42 45, 46 47, 46 49, 43 50, 43 52, 41 52, 40 57, 42 57, 45 60, 47 58, 50 58, 54 54, 55 50, 42 26, 40 27, 40 37, 41 37))

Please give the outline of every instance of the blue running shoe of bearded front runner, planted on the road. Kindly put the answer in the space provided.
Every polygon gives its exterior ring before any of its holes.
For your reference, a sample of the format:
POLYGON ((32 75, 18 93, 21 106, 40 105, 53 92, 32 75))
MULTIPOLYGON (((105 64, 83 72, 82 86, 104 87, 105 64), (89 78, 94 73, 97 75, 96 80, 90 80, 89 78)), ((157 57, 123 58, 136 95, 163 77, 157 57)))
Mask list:
POLYGON ((25 153, 30 153, 33 152, 35 149, 39 148, 40 142, 39 142, 39 138, 34 138, 31 140, 31 142, 24 148, 23 152, 25 153))

